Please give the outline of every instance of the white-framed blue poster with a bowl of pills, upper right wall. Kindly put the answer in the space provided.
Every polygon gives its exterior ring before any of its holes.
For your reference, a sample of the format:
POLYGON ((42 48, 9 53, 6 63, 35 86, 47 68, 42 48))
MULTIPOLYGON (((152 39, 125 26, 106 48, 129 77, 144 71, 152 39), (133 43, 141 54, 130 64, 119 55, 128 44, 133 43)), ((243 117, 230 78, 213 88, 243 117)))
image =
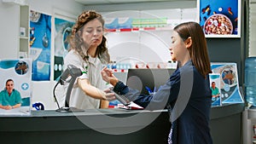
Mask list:
POLYGON ((206 37, 241 37, 240 0, 197 0, 197 8, 206 37))

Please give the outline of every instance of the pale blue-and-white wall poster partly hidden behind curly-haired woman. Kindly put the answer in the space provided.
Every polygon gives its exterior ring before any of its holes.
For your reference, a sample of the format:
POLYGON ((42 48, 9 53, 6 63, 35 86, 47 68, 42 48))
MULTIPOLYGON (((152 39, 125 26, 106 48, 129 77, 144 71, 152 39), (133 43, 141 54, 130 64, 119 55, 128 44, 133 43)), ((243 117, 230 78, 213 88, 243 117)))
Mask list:
POLYGON ((69 49, 69 38, 73 25, 74 22, 55 18, 54 80, 61 76, 63 58, 69 49))

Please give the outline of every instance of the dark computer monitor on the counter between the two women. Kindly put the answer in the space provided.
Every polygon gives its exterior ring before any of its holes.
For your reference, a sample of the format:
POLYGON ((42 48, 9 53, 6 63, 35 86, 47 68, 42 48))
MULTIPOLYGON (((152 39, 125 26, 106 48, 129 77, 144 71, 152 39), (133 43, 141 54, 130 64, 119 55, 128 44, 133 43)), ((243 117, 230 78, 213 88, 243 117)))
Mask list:
POLYGON ((138 89, 141 94, 148 95, 146 86, 154 91, 154 87, 158 90, 160 85, 166 84, 168 78, 171 77, 175 69, 129 69, 127 73, 126 84, 132 89, 138 89))

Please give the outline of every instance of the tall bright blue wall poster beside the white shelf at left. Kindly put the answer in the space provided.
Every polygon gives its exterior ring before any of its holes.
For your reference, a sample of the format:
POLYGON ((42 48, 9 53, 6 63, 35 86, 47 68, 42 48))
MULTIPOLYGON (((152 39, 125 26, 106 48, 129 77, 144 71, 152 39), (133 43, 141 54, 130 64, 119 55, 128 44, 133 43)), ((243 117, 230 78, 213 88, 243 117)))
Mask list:
POLYGON ((51 16, 30 11, 30 48, 32 80, 48 81, 50 78, 51 16))

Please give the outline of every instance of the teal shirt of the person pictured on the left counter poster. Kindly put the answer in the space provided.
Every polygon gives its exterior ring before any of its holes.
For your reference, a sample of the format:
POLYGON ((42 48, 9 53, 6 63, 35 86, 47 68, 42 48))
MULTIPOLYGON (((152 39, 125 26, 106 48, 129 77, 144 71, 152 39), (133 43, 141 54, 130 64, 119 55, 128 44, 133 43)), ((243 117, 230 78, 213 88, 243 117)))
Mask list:
POLYGON ((13 90, 11 95, 8 94, 6 89, 0 92, 0 104, 2 106, 15 106, 18 103, 21 103, 20 92, 16 89, 13 90))

